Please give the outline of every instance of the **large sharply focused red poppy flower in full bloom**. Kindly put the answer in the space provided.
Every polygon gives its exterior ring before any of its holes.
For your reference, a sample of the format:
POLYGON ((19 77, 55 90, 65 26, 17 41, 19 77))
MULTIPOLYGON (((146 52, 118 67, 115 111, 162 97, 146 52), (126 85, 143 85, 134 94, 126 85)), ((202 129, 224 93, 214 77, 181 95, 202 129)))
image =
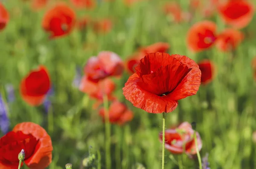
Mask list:
POLYGON ((149 113, 172 112, 178 100, 195 95, 201 83, 198 65, 179 54, 147 54, 135 70, 123 94, 135 107, 149 113))

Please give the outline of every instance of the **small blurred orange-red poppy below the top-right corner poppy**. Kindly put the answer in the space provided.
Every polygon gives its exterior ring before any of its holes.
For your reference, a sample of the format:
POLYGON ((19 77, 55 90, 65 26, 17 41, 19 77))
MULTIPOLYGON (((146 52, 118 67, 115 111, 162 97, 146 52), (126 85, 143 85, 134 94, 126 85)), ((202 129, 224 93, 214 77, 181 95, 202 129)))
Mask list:
POLYGON ((234 50, 241 43, 244 34, 236 29, 225 29, 218 35, 216 46, 221 51, 234 50))

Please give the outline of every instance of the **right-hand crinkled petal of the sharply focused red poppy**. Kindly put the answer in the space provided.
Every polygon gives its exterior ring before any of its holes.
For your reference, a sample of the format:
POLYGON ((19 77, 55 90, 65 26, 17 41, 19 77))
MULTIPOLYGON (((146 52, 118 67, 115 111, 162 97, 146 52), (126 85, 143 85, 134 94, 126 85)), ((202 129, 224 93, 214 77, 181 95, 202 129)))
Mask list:
POLYGON ((188 66, 190 72, 186 74, 186 77, 178 84, 178 86, 171 92, 168 97, 171 97, 172 100, 180 100, 191 95, 195 95, 201 84, 201 70, 197 63, 189 57, 172 54, 172 57, 175 57, 181 63, 188 66))

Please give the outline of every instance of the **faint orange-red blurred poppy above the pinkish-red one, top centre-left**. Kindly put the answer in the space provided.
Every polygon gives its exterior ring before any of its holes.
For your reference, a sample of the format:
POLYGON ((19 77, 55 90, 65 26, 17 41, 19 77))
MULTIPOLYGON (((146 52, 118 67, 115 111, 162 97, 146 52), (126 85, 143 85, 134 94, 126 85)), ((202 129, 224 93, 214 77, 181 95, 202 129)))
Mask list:
POLYGON ((112 29, 112 21, 109 19, 96 20, 93 22, 93 30, 97 33, 106 34, 112 29))

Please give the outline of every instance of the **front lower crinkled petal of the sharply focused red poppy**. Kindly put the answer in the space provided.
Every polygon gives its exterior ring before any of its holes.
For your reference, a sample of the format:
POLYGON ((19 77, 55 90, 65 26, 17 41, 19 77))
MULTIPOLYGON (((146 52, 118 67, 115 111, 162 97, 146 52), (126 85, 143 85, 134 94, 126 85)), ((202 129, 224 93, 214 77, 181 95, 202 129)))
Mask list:
POLYGON ((149 113, 172 112, 176 109, 178 102, 172 100, 172 97, 157 96, 145 91, 138 85, 140 77, 134 73, 129 77, 123 88, 123 94, 137 108, 143 109, 149 113))

